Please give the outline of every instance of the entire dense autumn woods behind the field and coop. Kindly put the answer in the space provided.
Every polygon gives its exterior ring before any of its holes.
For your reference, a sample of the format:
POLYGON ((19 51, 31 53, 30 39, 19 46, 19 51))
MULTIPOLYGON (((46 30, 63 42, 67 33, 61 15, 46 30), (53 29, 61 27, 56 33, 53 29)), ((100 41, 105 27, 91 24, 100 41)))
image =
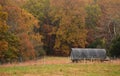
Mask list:
POLYGON ((120 0, 0 0, 0 63, 71 48, 120 56, 120 0))

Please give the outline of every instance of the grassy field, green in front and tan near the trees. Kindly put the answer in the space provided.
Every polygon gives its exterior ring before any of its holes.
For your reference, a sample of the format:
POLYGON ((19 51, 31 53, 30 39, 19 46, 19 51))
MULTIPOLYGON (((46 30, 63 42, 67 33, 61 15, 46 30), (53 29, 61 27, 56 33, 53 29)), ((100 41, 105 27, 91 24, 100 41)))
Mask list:
POLYGON ((65 57, 6 64, 0 66, 0 76, 120 76, 120 62, 71 63, 65 57))

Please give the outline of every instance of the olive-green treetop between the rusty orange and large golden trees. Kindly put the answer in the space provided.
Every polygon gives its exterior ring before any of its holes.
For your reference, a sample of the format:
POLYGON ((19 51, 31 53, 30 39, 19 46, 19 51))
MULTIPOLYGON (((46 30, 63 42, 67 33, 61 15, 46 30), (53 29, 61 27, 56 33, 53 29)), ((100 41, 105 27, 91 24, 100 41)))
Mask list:
POLYGON ((50 11, 49 6, 49 0, 28 0, 23 7, 38 18, 42 24, 44 20, 47 20, 46 16, 50 11))

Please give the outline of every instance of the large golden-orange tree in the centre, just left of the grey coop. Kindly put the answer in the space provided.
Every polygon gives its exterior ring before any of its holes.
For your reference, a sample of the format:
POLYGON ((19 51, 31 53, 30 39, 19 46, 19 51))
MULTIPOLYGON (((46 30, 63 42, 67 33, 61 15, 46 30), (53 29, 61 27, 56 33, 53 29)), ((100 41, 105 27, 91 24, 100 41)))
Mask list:
POLYGON ((55 1, 54 12, 60 23, 56 28, 54 50, 61 55, 69 55, 72 47, 84 48, 86 45, 85 12, 80 1, 55 1))

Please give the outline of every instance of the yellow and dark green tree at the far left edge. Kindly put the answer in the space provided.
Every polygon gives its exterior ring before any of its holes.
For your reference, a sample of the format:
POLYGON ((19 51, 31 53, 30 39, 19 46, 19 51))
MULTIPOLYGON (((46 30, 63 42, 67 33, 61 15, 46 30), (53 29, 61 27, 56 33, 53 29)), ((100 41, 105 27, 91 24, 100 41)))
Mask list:
POLYGON ((6 24, 8 14, 0 6, 0 61, 1 63, 17 61, 19 57, 19 38, 8 31, 6 24))

